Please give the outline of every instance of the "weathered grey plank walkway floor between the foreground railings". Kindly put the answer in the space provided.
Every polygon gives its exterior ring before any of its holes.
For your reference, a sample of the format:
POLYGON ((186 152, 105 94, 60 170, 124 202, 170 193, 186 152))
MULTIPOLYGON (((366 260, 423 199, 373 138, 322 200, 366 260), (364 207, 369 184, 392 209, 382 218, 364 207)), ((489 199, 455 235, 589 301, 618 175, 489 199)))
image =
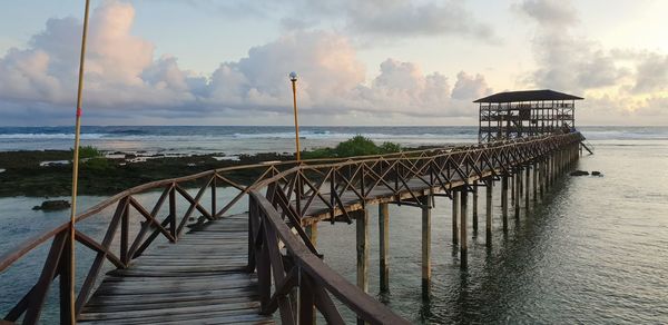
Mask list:
POLYGON ((248 260, 248 217, 225 217, 175 244, 151 246, 112 270, 79 316, 86 324, 273 324, 258 315, 248 260))

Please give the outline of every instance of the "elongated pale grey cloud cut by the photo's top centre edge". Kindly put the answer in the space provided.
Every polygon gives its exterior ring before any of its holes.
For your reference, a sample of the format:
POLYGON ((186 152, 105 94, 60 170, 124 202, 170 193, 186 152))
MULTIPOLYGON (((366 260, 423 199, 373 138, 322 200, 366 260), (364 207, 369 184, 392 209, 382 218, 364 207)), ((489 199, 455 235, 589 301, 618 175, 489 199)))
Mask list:
POLYGON ((191 2, 228 16, 277 17, 287 29, 304 29, 322 20, 333 21, 348 37, 462 36, 493 39, 493 30, 480 22, 462 1, 411 0, 301 0, 288 2, 234 0, 191 2))

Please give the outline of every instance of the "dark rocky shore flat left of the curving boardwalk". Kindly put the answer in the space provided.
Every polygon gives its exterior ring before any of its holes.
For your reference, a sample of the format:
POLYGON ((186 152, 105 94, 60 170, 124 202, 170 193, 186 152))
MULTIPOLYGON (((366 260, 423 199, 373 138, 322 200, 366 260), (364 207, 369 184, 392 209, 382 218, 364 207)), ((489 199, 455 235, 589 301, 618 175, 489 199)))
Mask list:
MULTIPOLYGON (((69 150, 0 152, 0 197, 68 196, 72 166, 69 150)), ((124 189, 165 178, 191 175, 215 168, 271 160, 292 160, 288 154, 257 154, 234 157, 224 154, 165 156, 106 152, 84 159, 79 171, 79 194, 112 195, 124 189)))

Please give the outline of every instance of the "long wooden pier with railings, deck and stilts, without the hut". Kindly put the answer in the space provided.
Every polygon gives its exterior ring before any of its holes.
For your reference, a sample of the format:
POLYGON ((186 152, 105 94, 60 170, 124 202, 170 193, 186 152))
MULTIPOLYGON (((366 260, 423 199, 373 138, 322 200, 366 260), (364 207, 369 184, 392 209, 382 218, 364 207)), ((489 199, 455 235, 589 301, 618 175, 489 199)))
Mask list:
POLYGON ((582 139, 570 132, 385 156, 238 166, 138 186, 77 217, 81 223, 107 208, 115 210, 101 238, 76 230, 77 246, 92 252, 95 259, 75 306, 69 299, 69 284, 76 280, 68 276, 69 245, 75 244, 69 243, 69 224, 0 257, 3 272, 51 242, 35 286, 7 311, 4 321, 37 323, 57 282, 63 324, 71 321, 71 307, 82 323, 312 324, 320 313, 327 323, 343 324, 337 306, 350 308, 360 323, 407 324, 366 294, 369 237, 375 232, 369 208, 377 205, 380 215, 381 290, 391 284, 387 205, 421 210, 421 277, 429 296, 431 253, 440 249, 431 247, 431 227, 443 221, 432 215, 434 197, 452 199, 452 239, 466 267, 468 225, 473 223, 477 233, 479 215, 484 214, 491 245, 493 218, 502 218, 507 229, 510 207, 519 217, 522 207, 542 198, 578 159, 582 139), (497 181, 501 211, 491 204, 497 181), (197 194, 186 186, 197 186, 197 194), (238 195, 220 201, 219 187, 236 188, 238 195), (136 198, 155 190, 161 195, 150 206, 136 198), (478 210, 481 191, 484 211, 478 210), (248 201, 248 213, 229 216, 242 200, 248 201), (205 221, 186 232, 196 214, 205 221), (322 260, 316 240, 321 221, 356 224, 356 284, 322 260), (114 269, 102 274, 105 265, 114 269))

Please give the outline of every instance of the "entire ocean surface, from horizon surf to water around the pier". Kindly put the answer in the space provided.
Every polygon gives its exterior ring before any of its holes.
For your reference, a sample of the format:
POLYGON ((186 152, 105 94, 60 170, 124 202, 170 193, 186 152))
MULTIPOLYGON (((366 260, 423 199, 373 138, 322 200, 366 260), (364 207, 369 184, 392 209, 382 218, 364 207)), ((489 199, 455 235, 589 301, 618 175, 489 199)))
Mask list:
MULTIPOLYGON (((68 149, 71 128, 0 128, 0 150, 68 149)), ((432 210, 432 293, 421 296, 421 213, 390 208, 390 293, 379 294, 377 211, 371 206, 370 293, 413 323, 423 324, 667 324, 668 323, 668 128, 582 127, 596 154, 577 168, 603 177, 563 176, 542 201, 500 220, 494 190, 493 243, 473 234, 468 266, 461 267, 450 233, 451 205, 432 210)), ((292 151, 291 127, 85 127, 84 145, 110 151, 292 151)), ((362 134, 404 146, 477 141, 475 127, 303 127, 303 144, 331 146, 362 134)), ((1 166, 0 166, 1 168, 1 166)), ((0 185, 1 186, 1 185, 0 185)), ((219 190, 219 199, 234 195, 219 190)), ((146 194, 140 200, 155 200, 146 194)), ((84 196, 81 208, 104 197, 84 196)), ((67 213, 31 210, 43 198, 0 198, 0 255, 21 240, 65 221, 67 213)), ((242 203, 234 211, 244 211, 242 203)), ((479 203, 484 211, 484 200, 479 203)), ((101 236, 112 211, 81 225, 101 236)), ((470 219, 470 218, 469 218, 470 219)), ((484 232, 484 218, 480 218, 484 232)), ((325 262, 354 282, 354 225, 322 223, 318 247, 325 262)), ((0 315, 29 287, 48 247, 42 245, 0 274, 0 315)), ((92 256, 79 249, 79 265, 92 256)), ((86 269, 79 269, 84 274, 86 269)), ((57 317, 51 290, 46 324, 57 317)), ((350 315, 350 314, 348 314, 350 315)))

